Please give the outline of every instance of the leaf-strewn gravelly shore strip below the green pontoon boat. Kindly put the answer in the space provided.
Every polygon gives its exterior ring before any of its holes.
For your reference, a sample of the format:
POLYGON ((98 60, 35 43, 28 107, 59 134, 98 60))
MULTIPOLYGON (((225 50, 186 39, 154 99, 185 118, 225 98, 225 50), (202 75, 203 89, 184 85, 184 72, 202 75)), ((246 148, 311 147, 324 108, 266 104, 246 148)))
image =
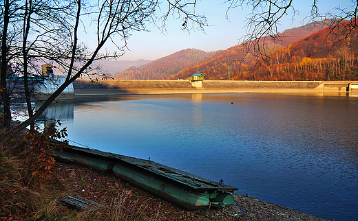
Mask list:
MULTIPOLYGON (((141 206, 145 206, 145 210, 154 211, 157 214, 156 220, 306 220, 306 221, 324 221, 323 218, 295 211, 287 207, 275 205, 271 202, 264 202, 249 196, 241 194, 233 194, 237 204, 231 205, 223 209, 200 209, 187 211, 176 205, 162 200, 154 195, 147 193, 142 189, 134 187, 128 183, 120 181, 111 174, 102 174, 81 165, 73 165, 56 162, 56 177, 63 181, 69 187, 71 192, 76 196, 82 196, 94 202, 102 203, 110 207, 114 197, 107 194, 108 190, 104 190, 107 196, 98 196, 98 186, 103 183, 109 187, 116 186, 118 192, 129 193, 128 198, 135 200, 141 206), (81 185, 81 181, 86 181, 85 185, 81 185), (109 204, 106 204, 109 203, 109 204), (240 207, 238 206, 240 205, 240 207)), ((149 212, 147 212, 149 214, 149 212)), ((150 218, 148 216, 147 218, 150 218)), ((153 217, 151 217, 153 218, 153 217)))

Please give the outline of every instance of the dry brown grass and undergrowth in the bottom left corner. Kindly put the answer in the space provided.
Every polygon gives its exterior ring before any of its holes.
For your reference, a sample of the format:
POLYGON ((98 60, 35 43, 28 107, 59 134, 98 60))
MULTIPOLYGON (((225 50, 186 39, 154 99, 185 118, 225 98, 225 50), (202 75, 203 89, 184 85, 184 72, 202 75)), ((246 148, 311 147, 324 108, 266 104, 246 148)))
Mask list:
POLYGON ((118 190, 110 204, 103 202, 105 207, 68 207, 58 198, 73 194, 73 187, 54 174, 28 174, 25 154, 19 153, 19 146, 4 143, 4 136, 0 128, 0 220, 158 220, 146 218, 146 206, 130 198, 131 191, 118 190))

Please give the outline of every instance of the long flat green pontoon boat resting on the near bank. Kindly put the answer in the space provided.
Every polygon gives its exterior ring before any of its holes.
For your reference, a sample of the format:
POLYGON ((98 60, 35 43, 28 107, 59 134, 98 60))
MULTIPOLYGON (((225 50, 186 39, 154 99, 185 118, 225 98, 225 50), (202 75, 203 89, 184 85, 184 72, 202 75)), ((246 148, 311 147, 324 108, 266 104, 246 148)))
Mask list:
POLYGON ((149 191, 187 210, 225 207, 235 201, 238 188, 189 174, 154 161, 72 146, 53 156, 58 161, 76 163, 101 172, 112 172, 121 180, 149 191))

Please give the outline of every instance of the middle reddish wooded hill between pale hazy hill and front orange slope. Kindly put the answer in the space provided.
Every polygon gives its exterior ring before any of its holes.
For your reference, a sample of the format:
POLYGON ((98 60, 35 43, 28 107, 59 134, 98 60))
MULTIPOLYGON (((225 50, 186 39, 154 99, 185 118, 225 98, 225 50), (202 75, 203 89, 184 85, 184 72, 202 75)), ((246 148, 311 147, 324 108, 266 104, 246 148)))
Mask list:
MULTIPOLYGON (((308 24, 302 27, 295 27, 289 30, 284 31, 281 36, 281 40, 278 42, 273 42, 270 37, 266 38, 266 54, 271 54, 277 50, 280 50, 292 43, 295 43, 297 40, 306 38, 322 28, 327 27, 325 23, 317 23, 316 25, 308 24)), ((248 75, 246 72, 249 67, 255 65, 255 59, 253 54, 249 53, 246 55, 242 62, 243 56, 246 54, 244 45, 235 45, 220 51, 219 53, 213 55, 210 58, 201 60, 191 67, 182 69, 178 73, 169 75, 168 79, 176 78, 187 78, 197 71, 199 73, 204 73, 207 80, 244 80, 251 78, 251 75, 248 75)))

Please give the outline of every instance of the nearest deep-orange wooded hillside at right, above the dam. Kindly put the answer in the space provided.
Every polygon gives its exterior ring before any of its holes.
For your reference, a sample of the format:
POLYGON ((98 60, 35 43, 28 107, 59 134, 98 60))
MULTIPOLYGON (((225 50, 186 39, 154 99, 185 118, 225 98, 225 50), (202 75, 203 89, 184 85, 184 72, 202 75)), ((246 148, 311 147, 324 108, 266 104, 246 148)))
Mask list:
POLYGON ((244 75, 248 80, 358 80, 358 30, 351 24, 327 27, 277 50, 244 75))

